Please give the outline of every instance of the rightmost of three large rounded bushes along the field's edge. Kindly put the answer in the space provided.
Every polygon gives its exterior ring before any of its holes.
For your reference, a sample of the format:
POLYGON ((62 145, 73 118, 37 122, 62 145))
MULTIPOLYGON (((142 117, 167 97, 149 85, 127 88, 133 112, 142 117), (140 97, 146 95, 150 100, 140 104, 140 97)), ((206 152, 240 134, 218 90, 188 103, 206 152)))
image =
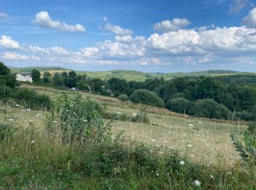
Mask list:
POLYGON ((227 119, 230 111, 213 99, 199 99, 192 107, 191 113, 196 117, 227 119))

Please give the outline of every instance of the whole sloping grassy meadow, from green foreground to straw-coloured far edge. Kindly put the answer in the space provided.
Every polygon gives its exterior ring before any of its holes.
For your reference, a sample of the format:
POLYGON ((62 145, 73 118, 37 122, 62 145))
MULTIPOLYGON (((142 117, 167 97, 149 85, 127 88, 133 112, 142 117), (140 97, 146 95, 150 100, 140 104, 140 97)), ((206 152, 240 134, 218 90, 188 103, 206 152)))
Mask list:
POLYGON ((230 139, 246 122, 193 118, 82 91, 20 88, 47 94, 62 108, 63 94, 92 101, 89 107, 99 102, 108 117, 101 121, 90 108, 91 116, 80 120, 82 100, 70 115, 1 103, 1 132, 7 129, 0 134, 1 189, 255 189, 255 165, 241 159, 230 139), (132 121, 142 108, 148 121, 132 121), (78 138, 80 129, 65 133, 63 117, 71 126, 84 121, 99 128, 78 138))

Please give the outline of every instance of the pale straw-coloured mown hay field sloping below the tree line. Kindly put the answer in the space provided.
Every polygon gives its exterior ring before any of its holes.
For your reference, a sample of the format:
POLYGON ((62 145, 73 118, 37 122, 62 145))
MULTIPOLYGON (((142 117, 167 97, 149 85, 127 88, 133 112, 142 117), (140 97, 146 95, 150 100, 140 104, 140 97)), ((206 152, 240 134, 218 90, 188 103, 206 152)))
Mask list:
MULTIPOLYGON (((83 99, 88 96, 101 102, 107 107, 108 113, 121 113, 132 115, 138 113, 142 105, 131 102, 120 102, 116 98, 89 94, 86 92, 61 91, 54 88, 45 88, 32 85, 23 85, 21 88, 34 88, 40 94, 48 94, 56 99, 65 92, 68 96, 81 94, 83 99)), ((122 132, 127 140, 135 140, 155 145, 159 148, 173 148, 195 163, 205 164, 218 168, 231 168, 239 163, 241 157, 230 140, 230 132, 246 129, 245 123, 211 121, 206 118, 191 118, 187 115, 171 113, 164 108, 146 107, 148 123, 135 123, 131 121, 113 121, 113 137, 122 132), (244 125, 243 125, 244 124, 244 125), (188 147, 192 145, 192 147, 188 147)), ((7 110, 1 108, 2 110, 7 110)), ((12 109, 8 114, 15 115, 16 122, 27 122, 40 125, 42 118, 37 118, 37 112, 20 112, 20 108, 12 109)), ((3 111, 2 111, 3 112, 3 111)), ((5 115, 5 119, 9 116, 5 115)), ((3 117, 2 117, 3 118, 3 117)), ((1 118, 1 119, 2 119, 1 118)), ((29 123, 28 123, 29 124, 29 123)), ((42 123, 41 123, 42 124, 42 123)))

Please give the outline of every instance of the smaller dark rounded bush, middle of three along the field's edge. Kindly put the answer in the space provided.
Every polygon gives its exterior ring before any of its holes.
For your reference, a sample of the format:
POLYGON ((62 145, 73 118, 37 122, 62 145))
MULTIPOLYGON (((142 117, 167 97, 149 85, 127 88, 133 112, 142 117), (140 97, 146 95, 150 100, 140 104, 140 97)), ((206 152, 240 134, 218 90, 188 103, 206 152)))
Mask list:
POLYGON ((169 99, 168 102, 165 104, 167 109, 176 112, 176 113, 191 113, 191 109, 194 103, 184 99, 184 98, 176 98, 176 99, 169 99))

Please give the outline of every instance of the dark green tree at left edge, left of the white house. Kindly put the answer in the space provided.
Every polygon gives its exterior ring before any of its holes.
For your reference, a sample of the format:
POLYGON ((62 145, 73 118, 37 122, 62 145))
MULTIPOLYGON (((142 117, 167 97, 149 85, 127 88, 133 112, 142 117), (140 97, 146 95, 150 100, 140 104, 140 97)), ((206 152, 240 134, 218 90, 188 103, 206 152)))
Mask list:
POLYGON ((0 85, 9 86, 15 88, 17 86, 16 77, 11 74, 10 69, 0 61, 0 85))

